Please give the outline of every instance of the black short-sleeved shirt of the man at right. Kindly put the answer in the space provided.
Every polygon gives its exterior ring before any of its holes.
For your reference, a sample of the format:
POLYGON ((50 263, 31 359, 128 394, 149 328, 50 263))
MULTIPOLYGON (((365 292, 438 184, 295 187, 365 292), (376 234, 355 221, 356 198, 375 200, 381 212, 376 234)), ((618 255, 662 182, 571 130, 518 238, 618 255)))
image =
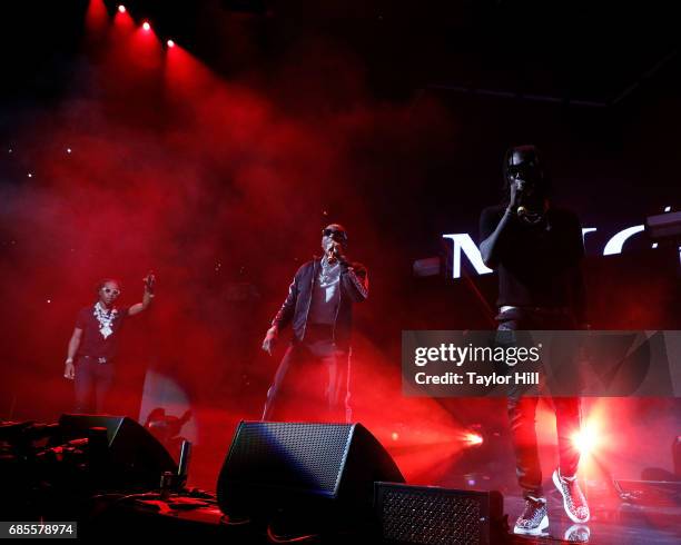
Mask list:
MULTIPOLYGON (((482 211, 481 241, 494 232, 505 210, 494 206, 482 211)), ((499 306, 568 307, 578 320, 584 319, 584 242, 574 212, 552 206, 536 225, 513 216, 497 242, 499 306)))

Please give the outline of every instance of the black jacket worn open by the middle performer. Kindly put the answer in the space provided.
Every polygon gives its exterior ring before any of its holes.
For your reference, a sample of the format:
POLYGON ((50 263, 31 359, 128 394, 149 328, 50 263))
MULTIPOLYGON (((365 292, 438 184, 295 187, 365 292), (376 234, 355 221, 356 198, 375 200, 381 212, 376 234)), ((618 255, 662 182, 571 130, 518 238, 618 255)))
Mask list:
MULTIPOLYGON (((294 340, 298 343, 305 339, 307 315, 319 267, 320 259, 315 257, 298 269, 284 305, 272 321, 272 325, 279 330, 292 324, 294 340)), ((334 340, 338 348, 347 349, 352 331, 353 303, 362 303, 368 297, 368 276, 366 268, 357 262, 342 264, 340 267, 340 297, 334 324, 334 340)))

